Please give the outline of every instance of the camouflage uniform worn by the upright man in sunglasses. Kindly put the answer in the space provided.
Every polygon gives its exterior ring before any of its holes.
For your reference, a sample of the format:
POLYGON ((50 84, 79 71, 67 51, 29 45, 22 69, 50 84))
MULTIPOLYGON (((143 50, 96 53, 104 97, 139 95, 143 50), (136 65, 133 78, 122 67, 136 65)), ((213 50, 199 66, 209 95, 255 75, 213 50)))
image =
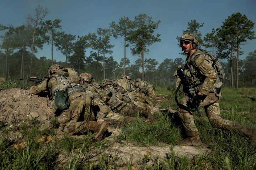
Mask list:
MULTIPOLYGON (((187 37, 192 38, 193 36, 188 34, 182 35, 182 38, 184 38, 185 40, 187 37)), ((206 55, 205 53, 202 54, 202 50, 195 50, 186 59, 184 74, 188 76, 194 82, 194 84, 202 83, 201 85, 198 85, 194 88, 194 91, 196 92, 195 94, 197 94, 195 95, 195 98, 197 98, 200 102, 199 107, 204 107, 210 124, 214 128, 229 130, 234 133, 237 132, 241 136, 250 136, 250 134, 252 133, 252 129, 249 129, 246 126, 239 125, 232 121, 222 119, 220 117, 220 108, 218 102, 222 94, 220 91, 222 83, 219 79, 217 79, 217 74, 212 67, 208 55, 206 55), (201 93, 202 96, 200 96, 198 92, 201 93)), ((183 91, 185 92, 185 94, 189 93, 188 89, 185 89, 184 86, 183 91)), ((189 97, 186 95, 178 103, 181 103, 183 106, 187 106, 188 98, 189 97)), ((177 109, 178 115, 182 120, 183 126, 185 127, 185 131, 188 136, 188 138, 184 140, 185 144, 188 144, 188 141, 190 140, 192 141, 192 144, 190 143, 191 145, 201 145, 201 140, 198 136, 199 132, 196 128, 196 125, 194 124, 193 115, 191 115, 185 109, 180 108, 178 105, 177 109), (197 137, 193 138, 194 136, 197 137)))

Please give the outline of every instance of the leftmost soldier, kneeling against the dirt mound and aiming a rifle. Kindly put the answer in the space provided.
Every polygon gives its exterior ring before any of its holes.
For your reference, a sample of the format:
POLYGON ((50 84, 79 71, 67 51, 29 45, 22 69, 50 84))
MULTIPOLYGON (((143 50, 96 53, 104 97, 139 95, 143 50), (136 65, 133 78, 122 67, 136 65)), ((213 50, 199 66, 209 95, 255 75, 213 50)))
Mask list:
POLYGON ((86 94, 84 88, 77 84, 79 77, 73 68, 64 69, 60 65, 54 64, 49 67, 48 74, 50 76, 48 80, 44 80, 40 84, 32 84, 31 93, 37 95, 42 91, 48 91, 50 93, 48 107, 55 112, 58 109, 55 95, 65 92, 68 95, 70 106, 62 108, 62 113, 58 117, 62 131, 66 134, 79 134, 93 130, 94 137, 101 139, 107 130, 108 123, 92 121, 91 98, 86 94), (81 117, 84 121, 78 121, 81 117))

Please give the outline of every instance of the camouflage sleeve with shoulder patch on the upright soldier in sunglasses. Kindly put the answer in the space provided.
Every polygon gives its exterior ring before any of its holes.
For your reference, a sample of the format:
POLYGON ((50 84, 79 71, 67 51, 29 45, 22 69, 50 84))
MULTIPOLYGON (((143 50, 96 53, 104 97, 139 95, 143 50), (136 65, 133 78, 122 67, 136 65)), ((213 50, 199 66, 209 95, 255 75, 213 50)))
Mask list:
POLYGON ((205 75, 206 79, 204 83, 199 87, 199 91, 203 95, 208 95, 212 86, 217 80, 217 74, 215 73, 214 68, 211 66, 210 61, 204 55, 201 55, 196 58, 194 65, 200 71, 201 74, 205 75))

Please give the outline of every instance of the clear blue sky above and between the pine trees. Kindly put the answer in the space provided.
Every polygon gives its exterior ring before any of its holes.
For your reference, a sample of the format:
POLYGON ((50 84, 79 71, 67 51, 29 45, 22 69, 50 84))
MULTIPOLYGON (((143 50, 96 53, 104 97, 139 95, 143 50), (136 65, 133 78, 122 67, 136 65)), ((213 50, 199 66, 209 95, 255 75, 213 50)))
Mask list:
MULTIPOLYGON (((155 33, 161 34, 161 42, 149 46, 150 52, 145 54, 145 58, 155 58, 159 63, 165 58, 182 57, 185 60, 186 56, 178 54, 181 48, 177 46, 176 37, 182 35, 182 30, 187 29, 191 19, 204 23, 199 29, 203 36, 210 33, 212 28, 219 28, 228 16, 236 12, 245 14, 248 19, 256 23, 255 0, 2 0, 0 23, 7 25, 12 21, 14 27, 21 26, 25 22, 25 16, 32 14, 37 5, 50 10, 49 15, 43 18, 44 21, 61 19, 62 31, 76 36, 94 33, 97 28, 109 28, 109 23, 112 21, 117 23, 119 18, 124 16, 133 20, 135 16, 145 13, 153 17, 153 21, 161 20, 159 28, 155 30, 155 33)), ((256 28, 254 31, 256 32, 256 28)), ((0 35, 3 34, 4 31, 1 31, 0 35)), ((124 56, 121 41, 122 38, 111 38, 111 44, 114 45, 112 56, 118 62, 124 56)), ((256 50, 256 40, 248 40, 247 44, 241 47, 244 51, 244 55, 240 57, 242 59, 249 52, 256 50)), ((89 56, 91 49, 86 51, 86 56, 89 56)), ((42 56, 51 58, 51 46, 44 44, 43 50, 38 50, 35 55, 38 58, 42 56)), ((65 56, 60 51, 56 51, 56 47, 53 57, 57 61, 65 61, 65 56)), ((126 50, 126 57, 130 59, 131 64, 138 58, 132 56, 129 48, 126 50)))

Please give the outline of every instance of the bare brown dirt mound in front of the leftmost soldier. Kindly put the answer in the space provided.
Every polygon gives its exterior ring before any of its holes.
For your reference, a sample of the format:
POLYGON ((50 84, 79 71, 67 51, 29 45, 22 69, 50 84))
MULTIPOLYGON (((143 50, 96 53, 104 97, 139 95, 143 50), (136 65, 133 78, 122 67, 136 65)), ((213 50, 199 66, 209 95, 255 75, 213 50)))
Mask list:
POLYGON ((49 115, 54 115, 47 107, 47 95, 33 95, 29 90, 8 89, 0 91, 0 121, 19 123, 27 118, 37 117, 49 124, 49 115))

